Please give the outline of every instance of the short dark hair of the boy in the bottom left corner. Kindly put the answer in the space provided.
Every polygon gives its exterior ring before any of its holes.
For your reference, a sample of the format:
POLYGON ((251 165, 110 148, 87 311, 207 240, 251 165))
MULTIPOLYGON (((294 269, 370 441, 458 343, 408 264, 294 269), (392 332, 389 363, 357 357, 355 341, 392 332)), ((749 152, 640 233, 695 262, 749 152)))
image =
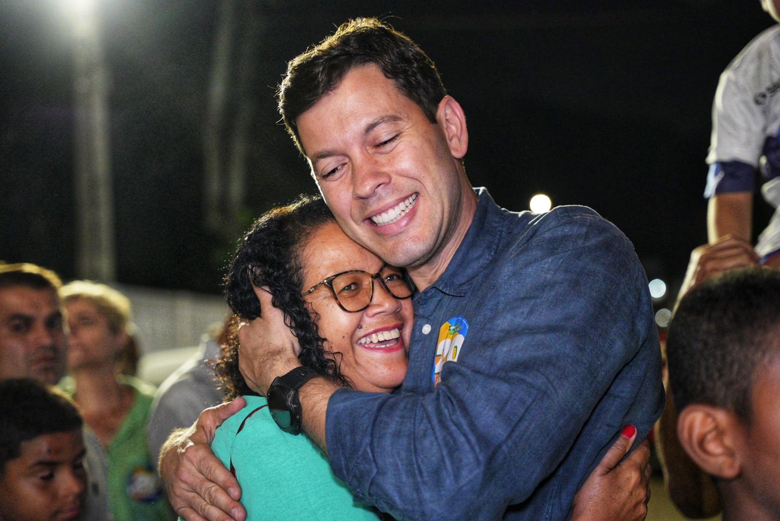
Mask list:
POLYGON ((82 424, 73 401, 58 389, 32 378, 0 380, 0 474, 20 456, 22 442, 82 424))

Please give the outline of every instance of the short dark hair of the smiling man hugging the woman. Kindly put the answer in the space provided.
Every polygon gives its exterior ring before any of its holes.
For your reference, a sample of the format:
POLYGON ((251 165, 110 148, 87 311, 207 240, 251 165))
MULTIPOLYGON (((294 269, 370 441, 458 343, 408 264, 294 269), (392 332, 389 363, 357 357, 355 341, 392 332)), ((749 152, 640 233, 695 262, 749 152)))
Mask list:
POLYGON ((375 18, 342 23, 331 36, 287 64, 278 87, 279 114, 304 153, 296 118, 331 92, 353 67, 374 64, 431 123, 446 91, 436 65, 409 37, 375 18))

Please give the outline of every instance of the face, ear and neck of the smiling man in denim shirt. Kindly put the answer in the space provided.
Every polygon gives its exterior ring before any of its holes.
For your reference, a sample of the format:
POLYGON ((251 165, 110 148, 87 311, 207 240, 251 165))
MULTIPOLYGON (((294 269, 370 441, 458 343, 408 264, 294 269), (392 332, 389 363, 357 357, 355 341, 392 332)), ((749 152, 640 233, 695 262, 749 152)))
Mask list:
POLYGON ((463 109, 442 97, 435 117, 441 126, 377 65, 363 65, 295 118, 301 150, 342 229, 386 262, 417 278, 425 273, 424 286, 452 259, 477 207, 460 162, 468 144, 463 109))

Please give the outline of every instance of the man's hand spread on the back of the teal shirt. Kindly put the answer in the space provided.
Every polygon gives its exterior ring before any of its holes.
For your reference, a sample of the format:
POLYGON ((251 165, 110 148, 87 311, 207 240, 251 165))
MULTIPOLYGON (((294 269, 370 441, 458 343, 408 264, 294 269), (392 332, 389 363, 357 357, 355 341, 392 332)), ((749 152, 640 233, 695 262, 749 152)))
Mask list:
POLYGON ((186 521, 246 519, 246 510, 238 502, 238 481, 210 446, 219 425, 245 405, 246 400, 239 398, 204 410, 192 427, 174 431, 162 445, 160 477, 168 501, 186 521))

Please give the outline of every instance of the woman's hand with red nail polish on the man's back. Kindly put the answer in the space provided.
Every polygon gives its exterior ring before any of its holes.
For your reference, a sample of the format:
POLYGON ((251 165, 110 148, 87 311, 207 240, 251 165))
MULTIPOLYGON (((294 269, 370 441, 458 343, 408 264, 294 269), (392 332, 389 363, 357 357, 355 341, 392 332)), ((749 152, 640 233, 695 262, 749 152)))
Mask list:
POLYGON ((642 521, 650 501, 650 444, 645 440, 625 461, 636 428, 623 429, 574 496, 572 521, 642 521))

